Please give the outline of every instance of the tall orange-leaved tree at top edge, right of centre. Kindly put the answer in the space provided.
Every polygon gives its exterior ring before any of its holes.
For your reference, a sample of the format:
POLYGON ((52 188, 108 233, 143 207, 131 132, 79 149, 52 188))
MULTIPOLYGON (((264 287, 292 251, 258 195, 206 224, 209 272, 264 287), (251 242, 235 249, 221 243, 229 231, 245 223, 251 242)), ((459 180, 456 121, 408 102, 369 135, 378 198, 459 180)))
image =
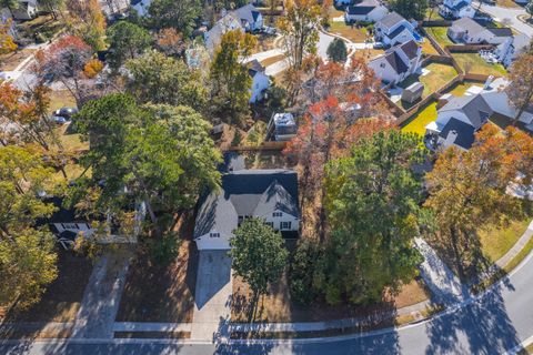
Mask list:
POLYGON ((316 53, 321 9, 316 0, 289 0, 285 12, 278 27, 291 67, 300 70, 303 59, 316 53))

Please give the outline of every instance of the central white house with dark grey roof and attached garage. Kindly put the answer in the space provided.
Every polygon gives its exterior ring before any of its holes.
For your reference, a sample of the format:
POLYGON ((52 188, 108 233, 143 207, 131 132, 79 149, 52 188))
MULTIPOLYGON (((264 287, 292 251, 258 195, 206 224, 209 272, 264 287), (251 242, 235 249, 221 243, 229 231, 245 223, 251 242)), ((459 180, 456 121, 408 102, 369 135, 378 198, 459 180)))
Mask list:
POLYGON ((229 250, 234 230, 247 217, 261 217, 285 239, 298 237, 298 175, 290 170, 233 170, 220 191, 203 199, 197 214, 199 250, 229 250))

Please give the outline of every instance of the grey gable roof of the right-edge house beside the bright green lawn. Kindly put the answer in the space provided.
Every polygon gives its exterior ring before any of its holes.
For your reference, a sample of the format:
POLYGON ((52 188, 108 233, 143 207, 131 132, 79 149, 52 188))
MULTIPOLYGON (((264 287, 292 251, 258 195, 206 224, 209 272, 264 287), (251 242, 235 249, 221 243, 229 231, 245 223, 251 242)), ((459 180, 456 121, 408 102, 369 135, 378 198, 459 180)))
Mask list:
POLYGON ((492 113, 494 113, 481 94, 465 95, 460 98, 453 97, 452 100, 450 100, 439 111, 461 111, 464 113, 464 115, 466 115, 472 126, 475 129, 481 128, 481 125, 492 115, 492 113))

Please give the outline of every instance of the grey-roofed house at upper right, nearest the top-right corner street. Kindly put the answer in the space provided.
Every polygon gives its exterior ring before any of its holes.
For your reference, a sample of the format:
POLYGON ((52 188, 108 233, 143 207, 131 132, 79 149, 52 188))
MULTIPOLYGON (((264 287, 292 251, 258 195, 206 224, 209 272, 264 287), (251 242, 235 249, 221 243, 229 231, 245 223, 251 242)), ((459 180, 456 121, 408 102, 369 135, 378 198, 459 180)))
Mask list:
POLYGON ((456 20, 447 29, 454 42, 466 44, 502 44, 512 36, 509 28, 485 28, 470 18, 456 20))

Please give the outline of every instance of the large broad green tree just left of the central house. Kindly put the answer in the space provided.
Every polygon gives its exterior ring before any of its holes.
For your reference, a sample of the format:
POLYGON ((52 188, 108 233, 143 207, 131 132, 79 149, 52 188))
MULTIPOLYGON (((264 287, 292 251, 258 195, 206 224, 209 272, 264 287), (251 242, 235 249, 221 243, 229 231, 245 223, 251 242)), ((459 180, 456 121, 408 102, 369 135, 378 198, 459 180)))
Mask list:
POLYGON ((190 209, 204 189, 219 185, 210 124, 190 108, 139 106, 127 94, 110 94, 88 102, 77 128, 91 143, 82 160, 92 169, 89 186, 105 180, 97 205, 120 209, 125 186, 144 202, 157 235, 164 232, 158 212, 190 209))

